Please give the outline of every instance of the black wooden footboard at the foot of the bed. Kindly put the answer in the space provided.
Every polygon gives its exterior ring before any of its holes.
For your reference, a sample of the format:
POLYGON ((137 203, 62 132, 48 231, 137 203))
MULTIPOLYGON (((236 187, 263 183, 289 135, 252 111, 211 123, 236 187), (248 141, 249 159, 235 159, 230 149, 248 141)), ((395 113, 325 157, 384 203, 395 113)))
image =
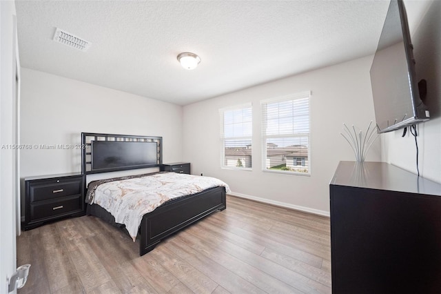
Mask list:
POLYGON ((167 236, 199 219, 227 208, 224 187, 211 188, 156 208, 143 216, 139 255, 144 255, 167 236))

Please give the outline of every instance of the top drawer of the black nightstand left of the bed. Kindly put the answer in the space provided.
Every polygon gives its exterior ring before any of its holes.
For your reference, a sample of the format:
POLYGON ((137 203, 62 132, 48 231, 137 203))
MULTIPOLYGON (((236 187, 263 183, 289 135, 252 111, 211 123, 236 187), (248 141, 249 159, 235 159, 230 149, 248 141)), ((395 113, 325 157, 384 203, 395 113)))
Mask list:
POLYGON ((29 200, 38 202, 48 199, 61 198, 70 195, 81 194, 81 179, 71 180, 69 182, 46 182, 39 184, 30 184, 29 200))

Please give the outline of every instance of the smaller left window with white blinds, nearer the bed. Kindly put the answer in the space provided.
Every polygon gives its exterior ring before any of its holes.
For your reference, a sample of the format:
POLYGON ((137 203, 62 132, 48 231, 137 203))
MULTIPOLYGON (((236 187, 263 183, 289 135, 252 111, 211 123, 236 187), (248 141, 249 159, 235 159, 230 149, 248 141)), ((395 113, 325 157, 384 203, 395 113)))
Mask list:
POLYGON ((252 105, 219 110, 221 167, 252 168, 252 105))

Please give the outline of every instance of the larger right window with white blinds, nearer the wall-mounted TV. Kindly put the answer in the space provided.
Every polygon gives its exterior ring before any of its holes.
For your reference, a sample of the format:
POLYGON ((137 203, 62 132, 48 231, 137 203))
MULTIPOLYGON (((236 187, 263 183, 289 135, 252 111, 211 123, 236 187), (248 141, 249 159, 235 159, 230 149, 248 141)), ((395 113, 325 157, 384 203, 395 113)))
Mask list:
POLYGON ((310 92, 261 101, 263 170, 310 174, 310 92))

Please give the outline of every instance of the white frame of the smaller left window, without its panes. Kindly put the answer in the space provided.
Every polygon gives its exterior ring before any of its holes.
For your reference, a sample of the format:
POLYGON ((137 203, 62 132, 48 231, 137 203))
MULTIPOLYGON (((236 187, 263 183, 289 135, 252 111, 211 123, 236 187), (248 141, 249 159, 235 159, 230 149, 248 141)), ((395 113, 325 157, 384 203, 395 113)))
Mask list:
MULTIPOLYGON (((220 168, 227 169, 227 170, 247 170, 252 171, 253 164, 252 159, 253 155, 251 156, 251 167, 238 167, 238 166, 227 166, 225 165, 225 141, 226 140, 249 140, 251 142, 251 146, 253 145, 253 105, 251 102, 245 103, 245 104, 239 104, 236 106, 230 106, 226 108, 220 108, 219 109, 219 119, 220 119, 220 168), (240 110, 249 108, 251 111, 251 134, 249 136, 242 136, 242 137, 225 137, 225 112, 227 111, 234 111, 234 110, 240 110)), ((252 147, 251 147, 252 150, 252 147)))

